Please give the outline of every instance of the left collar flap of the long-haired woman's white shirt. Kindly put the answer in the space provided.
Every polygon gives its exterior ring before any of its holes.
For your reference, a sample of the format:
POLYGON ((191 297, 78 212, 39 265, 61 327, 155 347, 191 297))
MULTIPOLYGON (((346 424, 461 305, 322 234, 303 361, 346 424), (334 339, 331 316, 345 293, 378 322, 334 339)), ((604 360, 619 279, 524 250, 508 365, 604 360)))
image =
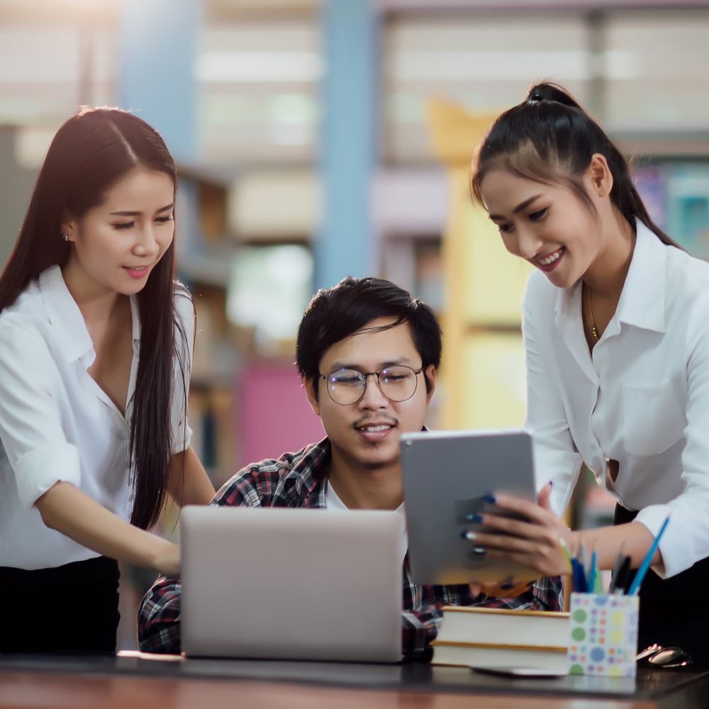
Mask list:
POLYGON ((55 328, 57 344, 66 361, 74 362, 91 352, 94 343, 86 329, 82 311, 69 293, 62 269, 57 265, 49 267, 40 273, 39 284, 50 323, 55 328))

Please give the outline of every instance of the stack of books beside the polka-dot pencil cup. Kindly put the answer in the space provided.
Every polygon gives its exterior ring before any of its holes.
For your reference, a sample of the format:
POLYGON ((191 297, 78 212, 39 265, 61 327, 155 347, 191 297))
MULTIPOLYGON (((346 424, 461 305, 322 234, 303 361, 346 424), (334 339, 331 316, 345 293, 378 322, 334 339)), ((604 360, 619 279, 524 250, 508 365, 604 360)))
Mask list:
POLYGON ((569 613, 446 605, 432 664, 564 671, 569 613))

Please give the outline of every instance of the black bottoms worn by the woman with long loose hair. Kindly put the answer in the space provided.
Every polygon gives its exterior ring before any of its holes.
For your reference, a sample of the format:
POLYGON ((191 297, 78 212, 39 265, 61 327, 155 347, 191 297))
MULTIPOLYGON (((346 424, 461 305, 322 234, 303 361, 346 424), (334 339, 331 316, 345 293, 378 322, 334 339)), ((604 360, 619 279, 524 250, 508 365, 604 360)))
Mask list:
POLYGON ((118 562, 53 569, 0 566, 0 652, 116 652, 118 562))

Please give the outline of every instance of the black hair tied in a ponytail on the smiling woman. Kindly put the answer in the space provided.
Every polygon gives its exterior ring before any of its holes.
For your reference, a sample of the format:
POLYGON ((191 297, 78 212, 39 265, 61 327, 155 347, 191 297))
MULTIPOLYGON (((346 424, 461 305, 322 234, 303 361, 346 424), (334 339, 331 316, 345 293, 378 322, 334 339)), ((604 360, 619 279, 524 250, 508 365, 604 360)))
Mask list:
POLYGON ((640 220, 661 242, 681 248, 650 218, 623 154, 558 84, 535 84, 521 104, 496 118, 473 160, 471 194, 484 204, 480 191, 483 178, 491 169, 502 167, 536 182, 566 184, 592 209, 581 176, 596 153, 605 157, 613 175, 610 200, 632 228, 635 220, 640 220))

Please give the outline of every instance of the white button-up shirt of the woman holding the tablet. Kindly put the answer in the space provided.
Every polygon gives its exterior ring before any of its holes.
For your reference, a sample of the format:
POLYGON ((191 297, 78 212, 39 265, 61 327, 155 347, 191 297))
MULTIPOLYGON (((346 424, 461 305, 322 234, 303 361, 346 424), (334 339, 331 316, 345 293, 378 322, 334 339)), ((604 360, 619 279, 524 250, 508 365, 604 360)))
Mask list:
POLYGON ((524 301, 527 428, 541 486, 562 513, 581 463, 657 535, 674 576, 709 556, 709 264, 641 223, 615 315, 589 352, 581 282, 533 272, 524 301))

